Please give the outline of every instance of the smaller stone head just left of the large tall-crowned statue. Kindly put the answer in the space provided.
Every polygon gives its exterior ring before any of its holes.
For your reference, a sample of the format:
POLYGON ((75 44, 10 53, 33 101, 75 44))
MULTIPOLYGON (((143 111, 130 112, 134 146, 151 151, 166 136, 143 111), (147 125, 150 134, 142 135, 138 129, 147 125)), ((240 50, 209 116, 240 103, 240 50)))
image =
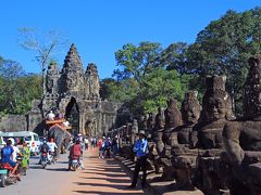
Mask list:
POLYGON ((182 117, 185 125, 197 123, 201 106, 197 100, 198 92, 189 91, 185 94, 185 99, 182 103, 182 117))

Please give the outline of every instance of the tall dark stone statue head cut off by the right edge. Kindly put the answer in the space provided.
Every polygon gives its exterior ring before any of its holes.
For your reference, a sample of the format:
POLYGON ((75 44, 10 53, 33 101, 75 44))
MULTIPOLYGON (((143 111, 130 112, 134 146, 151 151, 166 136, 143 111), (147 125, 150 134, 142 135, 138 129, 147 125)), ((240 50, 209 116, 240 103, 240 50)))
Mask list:
POLYGON ((249 58, 249 72, 244 88, 245 117, 261 116, 261 54, 249 58))

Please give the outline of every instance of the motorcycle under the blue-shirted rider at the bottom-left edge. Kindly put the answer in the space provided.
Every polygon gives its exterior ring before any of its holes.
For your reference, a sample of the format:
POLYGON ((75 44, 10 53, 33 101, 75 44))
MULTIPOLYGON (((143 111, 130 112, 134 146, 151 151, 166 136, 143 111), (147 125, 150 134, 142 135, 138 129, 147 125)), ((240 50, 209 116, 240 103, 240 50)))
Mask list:
POLYGON ((16 183, 20 181, 17 172, 12 176, 11 172, 13 171, 13 167, 9 164, 1 164, 0 165, 0 186, 5 187, 9 184, 16 183))

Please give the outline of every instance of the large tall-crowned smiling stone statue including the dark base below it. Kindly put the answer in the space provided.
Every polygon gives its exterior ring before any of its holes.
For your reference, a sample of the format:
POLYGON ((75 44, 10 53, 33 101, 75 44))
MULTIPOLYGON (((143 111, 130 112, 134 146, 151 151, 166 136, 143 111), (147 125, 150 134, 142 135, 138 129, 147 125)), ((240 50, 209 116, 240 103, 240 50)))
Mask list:
POLYGON ((200 122, 192 129, 192 135, 198 133, 196 146, 199 147, 195 183, 206 194, 216 194, 221 193, 221 190, 227 190, 226 167, 221 160, 222 131, 226 122, 233 118, 233 112, 231 96, 225 90, 225 76, 207 77, 200 122))

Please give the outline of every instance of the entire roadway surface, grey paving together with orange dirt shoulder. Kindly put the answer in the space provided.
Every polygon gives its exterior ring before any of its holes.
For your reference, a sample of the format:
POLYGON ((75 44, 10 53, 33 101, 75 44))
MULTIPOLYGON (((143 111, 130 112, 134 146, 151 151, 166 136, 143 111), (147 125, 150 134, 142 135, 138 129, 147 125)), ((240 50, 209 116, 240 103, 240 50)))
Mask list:
POLYGON ((71 194, 144 194, 138 190, 127 191, 130 178, 121 164, 114 159, 99 159, 97 150, 84 154, 86 170, 66 171, 67 157, 46 170, 36 165, 38 158, 30 159, 30 169, 22 181, 0 188, 1 195, 71 195, 71 194))

